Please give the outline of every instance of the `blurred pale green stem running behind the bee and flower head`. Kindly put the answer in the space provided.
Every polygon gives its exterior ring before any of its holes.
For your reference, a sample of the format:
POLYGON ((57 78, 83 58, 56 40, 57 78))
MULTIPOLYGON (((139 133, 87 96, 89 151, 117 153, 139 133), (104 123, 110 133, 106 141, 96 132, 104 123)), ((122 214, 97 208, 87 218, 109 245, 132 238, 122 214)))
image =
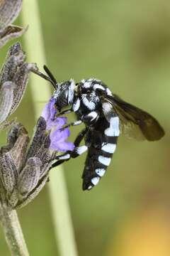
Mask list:
MULTIPOLYGON (((38 1, 23 1, 22 20, 23 26, 27 26, 29 24, 29 29, 25 34, 28 60, 38 63, 38 67, 41 68, 46 61, 40 15, 38 10, 38 1)), ((33 95, 35 118, 38 118, 40 117, 42 107, 44 106, 45 102, 50 100, 50 85, 36 75, 31 76, 30 83, 33 95)), ((72 218, 69 210, 67 187, 64 181, 63 171, 64 170, 62 167, 57 167, 52 171, 52 174, 50 174, 49 193, 53 224, 60 255, 77 256, 72 218)))

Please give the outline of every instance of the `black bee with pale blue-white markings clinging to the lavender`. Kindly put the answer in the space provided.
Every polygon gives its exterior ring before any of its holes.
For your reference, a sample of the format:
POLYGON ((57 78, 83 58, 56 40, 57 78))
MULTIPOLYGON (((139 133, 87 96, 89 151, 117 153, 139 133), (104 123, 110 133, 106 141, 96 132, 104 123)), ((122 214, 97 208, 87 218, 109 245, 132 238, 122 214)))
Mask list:
POLYGON ((74 150, 58 156, 52 168, 87 151, 82 175, 83 190, 91 190, 106 173, 120 133, 148 141, 155 141, 164 136, 164 129, 157 119, 121 100, 101 80, 90 78, 77 84, 74 80, 58 83, 50 70, 46 66, 44 68, 48 76, 36 73, 49 80, 55 87, 53 97, 59 115, 70 112, 77 114, 77 121, 67 127, 82 122, 85 124, 85 128, 74 141, 74 150), (63 110, 65 107, 69 109, 63 110), (82 139, 85 145, 79 146, 82 139))

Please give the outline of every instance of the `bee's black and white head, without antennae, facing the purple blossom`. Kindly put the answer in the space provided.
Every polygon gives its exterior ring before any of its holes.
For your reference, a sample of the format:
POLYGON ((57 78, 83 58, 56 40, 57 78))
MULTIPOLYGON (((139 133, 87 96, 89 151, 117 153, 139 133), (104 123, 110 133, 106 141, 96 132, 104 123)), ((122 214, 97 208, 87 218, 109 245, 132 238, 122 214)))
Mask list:
POLYGON ((61 82, 57 84, 54 98, 55 98, 55 106, 57 110, 61 111, 63 107, 67 107, 71 105, 74 98, 74 80, 68 80, 65 82, 61 82))

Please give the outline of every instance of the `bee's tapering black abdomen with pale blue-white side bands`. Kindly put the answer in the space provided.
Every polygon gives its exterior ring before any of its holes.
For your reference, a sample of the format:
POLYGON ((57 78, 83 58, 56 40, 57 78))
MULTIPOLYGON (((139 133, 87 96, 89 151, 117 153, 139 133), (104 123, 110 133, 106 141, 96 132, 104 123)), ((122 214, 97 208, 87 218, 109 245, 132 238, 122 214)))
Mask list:
POLYGON ((111 129, 115 129, 115 127, 111 127, 111 124, 106 119, 102 119, 99 120, 96 129, 89 131, 87 135, 86 142, 88 142, 87 146, 89 146, 89 150, 82 175, 83 190, 90 190, 96 186, 111 163, 118 140, 118 133, 115 131, 112 132, 111 129), (110 130, 109 136, 106 132, 108 130, 110 130))

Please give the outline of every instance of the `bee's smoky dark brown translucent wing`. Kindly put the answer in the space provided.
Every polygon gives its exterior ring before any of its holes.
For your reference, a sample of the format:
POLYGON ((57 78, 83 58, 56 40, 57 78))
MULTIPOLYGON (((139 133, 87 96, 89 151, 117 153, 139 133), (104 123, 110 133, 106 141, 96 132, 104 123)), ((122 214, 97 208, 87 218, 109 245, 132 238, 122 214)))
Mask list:
POLYGON ((120 118, 120 130, 135 139, 154 141, 164 136, 164 129, 157 119, 144 110, 120 99, 117 95, 105 95, 105 100, 113 105, 120 118))

